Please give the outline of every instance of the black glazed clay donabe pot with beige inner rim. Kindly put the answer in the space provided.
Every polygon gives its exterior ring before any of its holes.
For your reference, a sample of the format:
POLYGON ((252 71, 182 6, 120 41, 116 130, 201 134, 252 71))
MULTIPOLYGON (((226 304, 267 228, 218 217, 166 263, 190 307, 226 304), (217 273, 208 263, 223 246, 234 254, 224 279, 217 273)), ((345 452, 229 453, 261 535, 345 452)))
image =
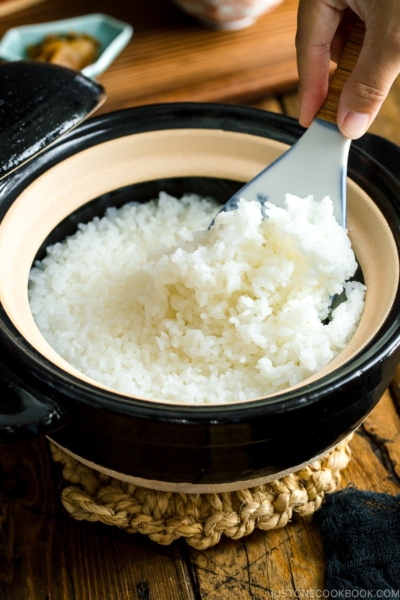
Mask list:
MULTIPOLYGON (((107 206, 165 190, 225 202, 301 135, 287 117, 213 104, 139 107, 92 119, 3 182, 0 358, 3 440, 48 433, 86 464, 144 487, 228 491, 297 470, 367 416, 400 358, 400 184, 353 144, 348 225, 367 296, 346 349, 274 396, 218 406, 130 397, 95 383, 50 348, 27 281, 49 243, 107 206)), ((390 168, 390 165, 389 165, 390 168)), ((288 191, 295 193, 295 190, 288 191)))

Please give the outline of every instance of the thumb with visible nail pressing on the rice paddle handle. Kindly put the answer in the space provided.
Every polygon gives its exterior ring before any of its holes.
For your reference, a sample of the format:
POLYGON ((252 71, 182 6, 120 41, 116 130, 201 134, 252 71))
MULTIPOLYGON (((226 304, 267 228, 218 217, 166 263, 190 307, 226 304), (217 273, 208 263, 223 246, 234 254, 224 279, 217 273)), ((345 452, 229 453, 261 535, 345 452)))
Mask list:
POLYGON ((400 71, 400 26, 399 31, 382 29, 367 28, 357 64, 340 95, 337 123, 350 139, 367 131, 400 71))

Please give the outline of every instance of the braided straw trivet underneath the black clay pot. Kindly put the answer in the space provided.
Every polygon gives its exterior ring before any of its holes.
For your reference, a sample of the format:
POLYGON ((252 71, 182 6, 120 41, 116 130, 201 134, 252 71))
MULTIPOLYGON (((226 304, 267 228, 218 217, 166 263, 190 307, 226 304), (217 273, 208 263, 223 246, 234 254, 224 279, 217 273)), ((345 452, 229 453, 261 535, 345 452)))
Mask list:
POLYGON ((116 525, 165 545, 184 537, 190 546, 204 550, 222 534, 237 540, 254 528, 285 527, 293 513, 311 515, 340 484, 340 472, 350 461, 351 438, 281 479, 218 494, 157 492, 95 471, 54 444, 51 452, 63 465, 64 478, 74 484, 63 490, 61 499, 78 521, 116 525))

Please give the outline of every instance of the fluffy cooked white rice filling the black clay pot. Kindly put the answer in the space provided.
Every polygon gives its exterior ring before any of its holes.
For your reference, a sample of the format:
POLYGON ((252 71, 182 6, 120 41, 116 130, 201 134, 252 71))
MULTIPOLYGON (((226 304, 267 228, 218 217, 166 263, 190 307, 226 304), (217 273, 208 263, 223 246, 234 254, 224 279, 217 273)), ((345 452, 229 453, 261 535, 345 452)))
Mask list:
POLYGON ((241 200, 210 231, 216 206, 194 195, 110 208, 32 269, 36 323, 71 365, 127 394, 224 403, 297 384, 348 343, 365 287, 344 283, 357 265, 330 199, 286 203, 263 220, 241 200))

